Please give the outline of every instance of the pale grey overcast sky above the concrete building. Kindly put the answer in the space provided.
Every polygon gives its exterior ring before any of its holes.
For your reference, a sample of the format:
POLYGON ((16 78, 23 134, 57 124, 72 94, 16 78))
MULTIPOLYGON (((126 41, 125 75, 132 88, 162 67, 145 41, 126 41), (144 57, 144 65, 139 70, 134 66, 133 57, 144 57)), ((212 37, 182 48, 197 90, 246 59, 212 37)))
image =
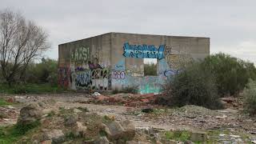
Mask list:
POLYGON ((219 51, 256 63, 256 0, 0 0, 58 44, 108 32, 210 37, 219 51))

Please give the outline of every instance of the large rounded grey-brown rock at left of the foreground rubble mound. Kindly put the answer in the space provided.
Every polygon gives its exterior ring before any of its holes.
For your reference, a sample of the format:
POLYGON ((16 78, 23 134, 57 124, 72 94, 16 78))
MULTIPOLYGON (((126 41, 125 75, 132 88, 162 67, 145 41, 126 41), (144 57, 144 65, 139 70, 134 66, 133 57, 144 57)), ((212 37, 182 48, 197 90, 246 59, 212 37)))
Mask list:
POLYGON ((42 118, 42 109, 37 103, 30 103, 20 110, 18 122, 28 124, 42 118))

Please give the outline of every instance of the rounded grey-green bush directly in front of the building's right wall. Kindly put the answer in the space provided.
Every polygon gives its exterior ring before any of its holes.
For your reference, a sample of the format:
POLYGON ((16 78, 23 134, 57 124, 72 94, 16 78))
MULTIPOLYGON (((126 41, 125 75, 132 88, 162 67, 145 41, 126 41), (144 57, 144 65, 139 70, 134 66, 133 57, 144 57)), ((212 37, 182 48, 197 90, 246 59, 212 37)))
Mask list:
POLYGON ((214 74, 204 70, 200 62, 194 62, 171 79, 164 87, 169 106, 196 105, 210 109, 220 109, 214 74))

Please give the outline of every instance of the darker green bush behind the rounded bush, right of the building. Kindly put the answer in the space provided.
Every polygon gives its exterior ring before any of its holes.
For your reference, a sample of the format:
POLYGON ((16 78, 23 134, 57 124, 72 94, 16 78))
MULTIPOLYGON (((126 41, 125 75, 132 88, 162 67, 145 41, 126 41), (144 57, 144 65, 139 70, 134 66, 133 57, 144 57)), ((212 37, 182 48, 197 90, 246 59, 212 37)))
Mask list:
POLYGON ((249 78, 256 79, 254 63, 244 62, 228 54, 210 55, 202 61, 202 67, 215 75, 218 94, 222 97, 238 95, 249 78))

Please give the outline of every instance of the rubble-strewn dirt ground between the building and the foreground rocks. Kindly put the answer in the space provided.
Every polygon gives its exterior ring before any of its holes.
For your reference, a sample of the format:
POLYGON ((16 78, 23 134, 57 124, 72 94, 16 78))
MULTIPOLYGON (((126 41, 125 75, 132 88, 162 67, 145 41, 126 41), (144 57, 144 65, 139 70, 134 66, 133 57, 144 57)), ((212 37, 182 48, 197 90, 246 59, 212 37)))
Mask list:
MULTIPOLYGON (((102 116, 110 116, 116 121, 130 120, 137 129, 155 128, 162 130, 200 130, 218 131, 223 134, 238 135, 256 140, 256 118, 244 113, 241 108, 227 108, 225 110, 208 110, 200 106, 183 106, 170 109, 166 107, 150 106, 154 111, 142 112, 146 106, 124 106, 113 104, 94 104, 90 100, 96 96, 89 94, 33 94, 33 95, 4 95, 3 98, 14 98, 18 104, 1 108, 7 118, 0 118, 0 126, 14 124, 18 119, 19 110, 29 102, 39 102, 54 99, 54 107, 65 109, 74 107, 86 107, 90 112, 102 116)), ((51 107, 50 109, 54 109, 51 107)), ((224 137, 223 137, 224 138, 224 137)), ((225 138, 224 138, 225 139, 225 138)), ((238 142, 239 143, 239 142, 238 142)))

